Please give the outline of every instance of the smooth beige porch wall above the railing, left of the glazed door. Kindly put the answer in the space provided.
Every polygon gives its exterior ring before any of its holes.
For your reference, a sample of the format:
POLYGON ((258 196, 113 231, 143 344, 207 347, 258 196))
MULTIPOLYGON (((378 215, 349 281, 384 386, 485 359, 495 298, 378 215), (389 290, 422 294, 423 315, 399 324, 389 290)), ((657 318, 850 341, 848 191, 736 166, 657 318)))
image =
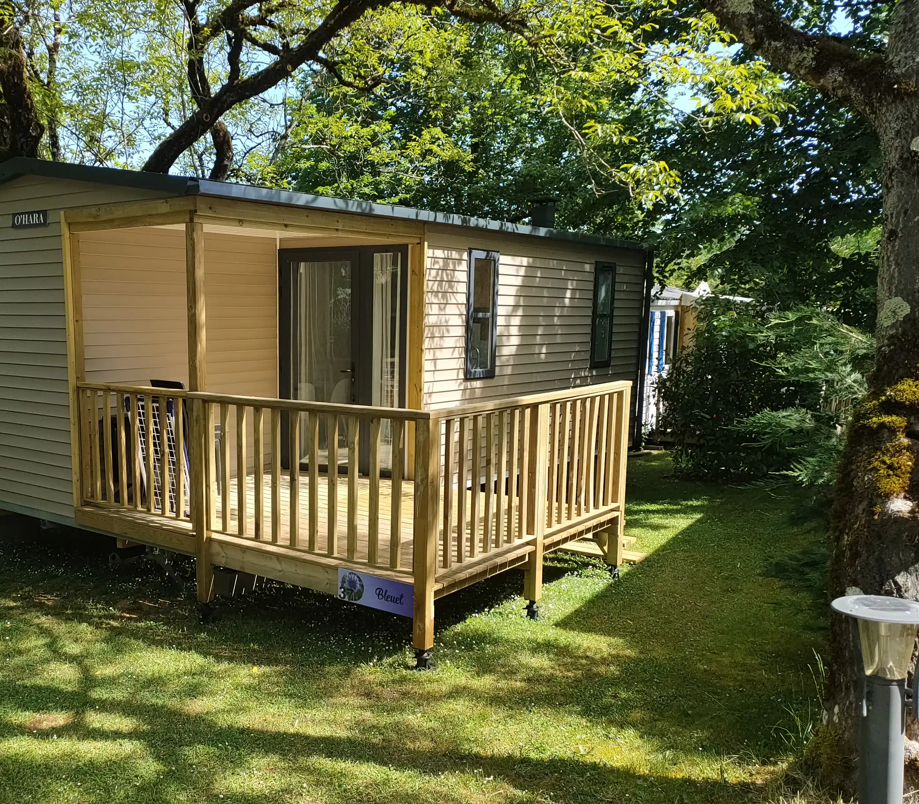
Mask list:
MULTIPOLYGON (((278 396, 274 238, 205 234, 208 390, 278 396)), ((188 382, 185 234, 80 235, 86 379, 188 382)))

